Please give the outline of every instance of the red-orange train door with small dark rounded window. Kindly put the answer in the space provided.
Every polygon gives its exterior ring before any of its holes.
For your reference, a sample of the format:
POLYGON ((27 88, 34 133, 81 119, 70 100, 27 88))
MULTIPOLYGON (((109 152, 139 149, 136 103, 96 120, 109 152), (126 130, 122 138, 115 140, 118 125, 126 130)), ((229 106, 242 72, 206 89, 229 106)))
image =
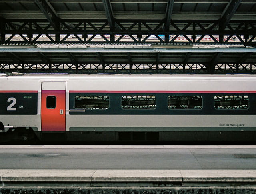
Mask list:
POLYGON ((66 91, 42 90, 41 96, 41 126, 42 131, 66 131, 66 91), (47 96, 56 96, 56 107, 47 108, 47 96), (62 110, 62 114, 61 114, 62 110))

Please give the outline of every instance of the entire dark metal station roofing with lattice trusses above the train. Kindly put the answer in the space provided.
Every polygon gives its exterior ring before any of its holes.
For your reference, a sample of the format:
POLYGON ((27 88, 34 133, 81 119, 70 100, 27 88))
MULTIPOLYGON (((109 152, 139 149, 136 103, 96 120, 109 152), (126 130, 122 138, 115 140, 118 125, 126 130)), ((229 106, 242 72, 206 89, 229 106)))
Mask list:
POLYGON ((128 73, 145 64, 147 73, 166 64, 168 73, 175 72, 172 67, 192 73, 198 67, 204 73, 226 67, 256 71, 256 52, 249 48, 256 47, 255 0, 0 0, 0 32, 0 44, 27 44, 0 48, 0 72, 40 72, 54 65, 56 72, 77 72, 78 64, 92 72, 114 64, 128 66, 128 73))

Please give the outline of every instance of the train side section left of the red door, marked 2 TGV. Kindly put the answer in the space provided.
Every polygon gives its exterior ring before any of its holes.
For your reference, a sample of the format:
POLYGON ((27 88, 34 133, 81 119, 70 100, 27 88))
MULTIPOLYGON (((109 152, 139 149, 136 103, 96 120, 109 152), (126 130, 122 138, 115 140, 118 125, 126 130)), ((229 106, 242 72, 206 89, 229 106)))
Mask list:
POLYGON ((4 130, 12 128, 32 128, 41 130, 39 81, 23 77, 1 77, 0 79, 0 122, 4 130))

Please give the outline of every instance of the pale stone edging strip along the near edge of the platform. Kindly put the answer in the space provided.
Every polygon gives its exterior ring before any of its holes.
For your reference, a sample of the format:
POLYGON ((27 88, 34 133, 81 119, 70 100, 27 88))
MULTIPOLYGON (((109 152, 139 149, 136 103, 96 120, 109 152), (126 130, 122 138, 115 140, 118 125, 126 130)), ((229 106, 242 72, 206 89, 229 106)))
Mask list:
POLYGON ((2 169, 2 182, 256 182, 256 170, 2 169))

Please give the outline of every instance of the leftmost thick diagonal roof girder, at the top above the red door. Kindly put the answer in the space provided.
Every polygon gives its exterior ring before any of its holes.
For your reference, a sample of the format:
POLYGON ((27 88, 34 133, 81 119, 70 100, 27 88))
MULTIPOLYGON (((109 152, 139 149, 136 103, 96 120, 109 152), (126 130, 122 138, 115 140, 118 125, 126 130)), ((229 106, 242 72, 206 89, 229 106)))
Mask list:
POLYGON ((48 3, 47 0, 35 0, 36 5, 40 8, 40 10, 44 13, 44 16, 47 18, 47 20, 50 22, 52 27, 55 30, 59 30, 59 18, 54 10, 54 8, 48 3))

